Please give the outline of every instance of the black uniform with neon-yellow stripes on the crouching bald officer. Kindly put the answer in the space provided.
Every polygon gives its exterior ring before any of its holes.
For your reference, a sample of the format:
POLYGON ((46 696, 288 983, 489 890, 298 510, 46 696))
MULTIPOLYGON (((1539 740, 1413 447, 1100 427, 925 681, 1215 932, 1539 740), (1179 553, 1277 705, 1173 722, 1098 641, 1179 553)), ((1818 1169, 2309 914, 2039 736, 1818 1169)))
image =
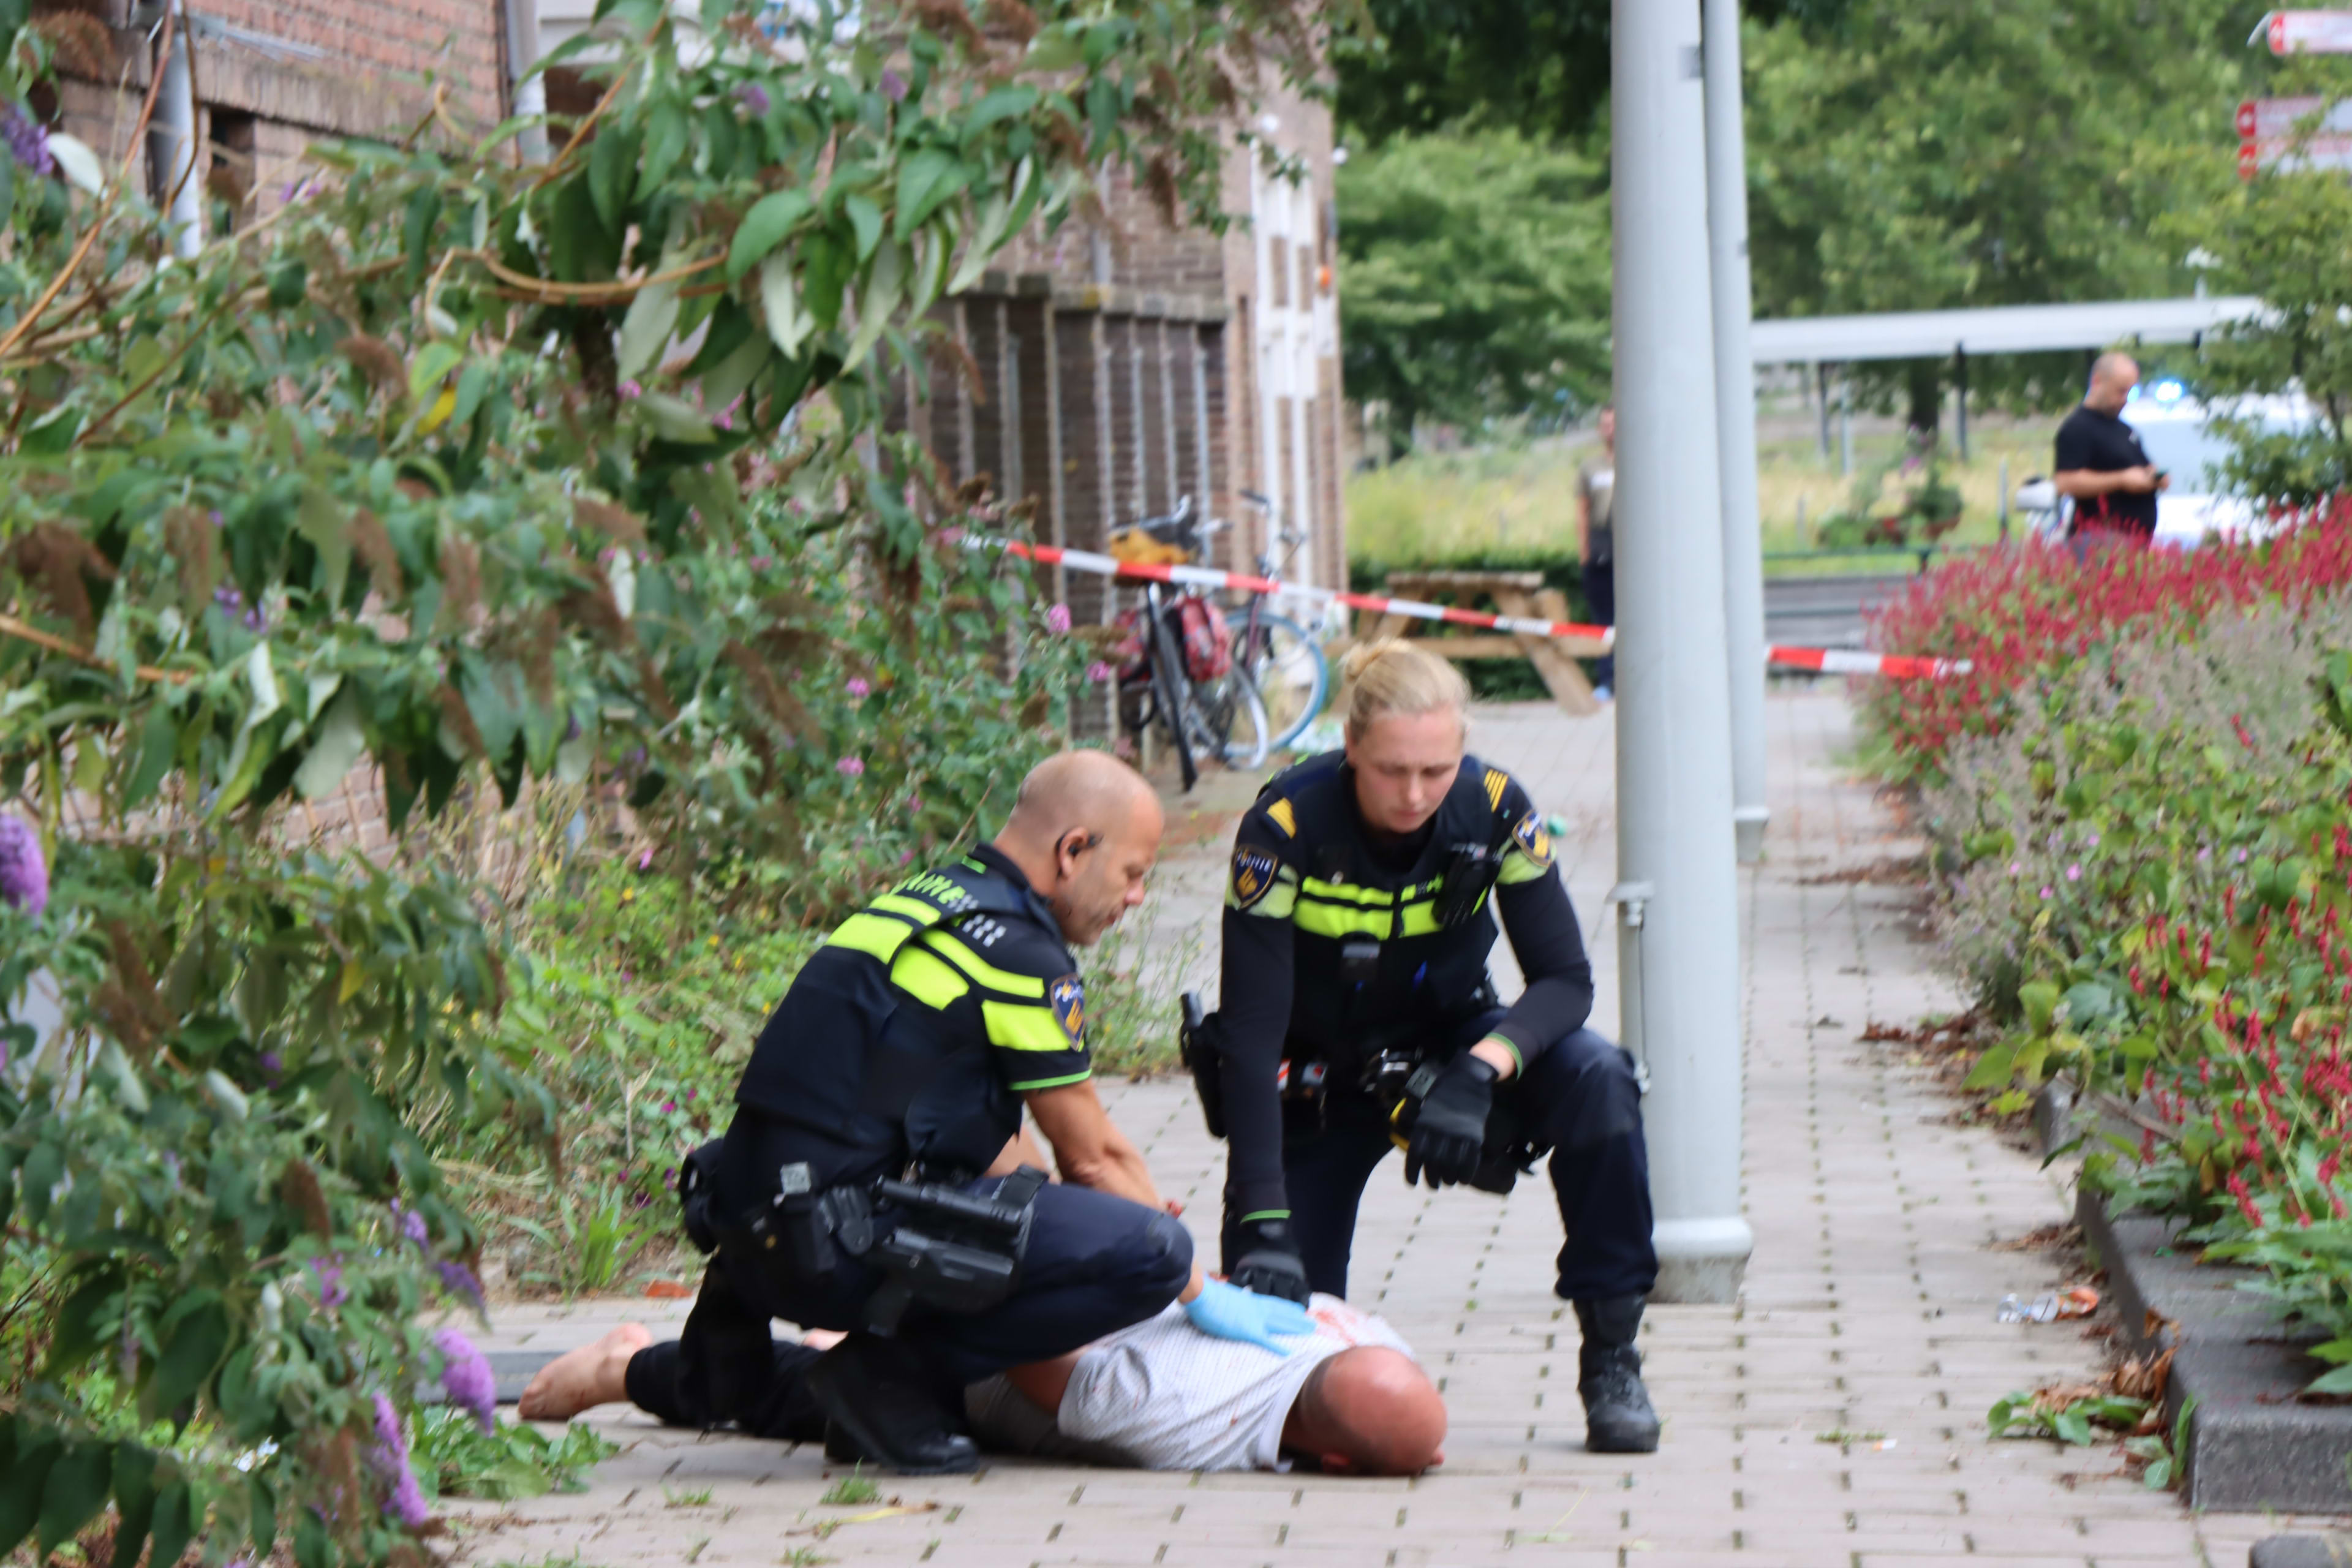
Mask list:
POLYGON ((630 1361, 628 1396, 673 1425, 783 1434, 804 1375, 833 1448, 969 1469, 964 1385, 1138 1324, 1192 1272, 1164 1213, 1033 1171, 981 1178, 1023 1093, 1089 1074, 1077 966, 993 846, 851 914, 767 1020, 736 1119, 694 1166, 687 1225, 717 1255, 677 1347, 630 1361), (875 1187, 898 1178, 931 1182, 929 1206, 875 1187), (851 1338, 802 1366, 769 1340, 779 1316, 851 1338))

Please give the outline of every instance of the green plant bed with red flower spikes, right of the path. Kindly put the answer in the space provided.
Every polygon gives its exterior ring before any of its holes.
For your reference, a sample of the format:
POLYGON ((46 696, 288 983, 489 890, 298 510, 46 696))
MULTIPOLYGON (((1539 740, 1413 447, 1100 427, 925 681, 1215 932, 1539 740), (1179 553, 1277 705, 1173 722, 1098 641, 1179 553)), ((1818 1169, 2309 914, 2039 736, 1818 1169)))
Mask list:
POLYGON ((2190 1220, 2352 1392, 2352 604, 2124 639, 1929 790, 1947 943, 2006 1025, 1971 1088, 2067 1077, 2084 1180, 2190 1220))

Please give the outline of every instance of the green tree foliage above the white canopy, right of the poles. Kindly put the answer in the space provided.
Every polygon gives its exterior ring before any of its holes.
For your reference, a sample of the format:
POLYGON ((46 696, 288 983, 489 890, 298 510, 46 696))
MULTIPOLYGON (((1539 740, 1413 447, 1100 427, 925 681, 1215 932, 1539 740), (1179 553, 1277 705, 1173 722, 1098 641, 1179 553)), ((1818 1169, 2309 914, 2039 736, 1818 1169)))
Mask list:
MULTIPOLYGON (((1830 28, 1750 26, 1757 315, 2187 294, 2190 247, 2159 216, 2230 181, 2258 14, 1863 0, 1830 28)), ((2065 397, 2082 362, 1987 371, 1992 390, 2065 397)), ((1924 386, 1898 374, 1933 407, 1933 367, 1924 386)))

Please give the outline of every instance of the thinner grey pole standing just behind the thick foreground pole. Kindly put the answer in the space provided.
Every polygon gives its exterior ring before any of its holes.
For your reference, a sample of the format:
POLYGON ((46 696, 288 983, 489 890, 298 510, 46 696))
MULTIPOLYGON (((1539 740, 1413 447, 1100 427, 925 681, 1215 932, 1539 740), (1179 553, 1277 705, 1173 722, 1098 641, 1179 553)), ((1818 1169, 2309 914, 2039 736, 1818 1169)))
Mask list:
POLYGON ((1731 825, 1740 865, 1764 858, 1764 534, 1757 520, 1757 367, 1748 353, 1748 134, 1740 7, 1705 0, 1708 252, 1715 284, 1715 451, 1724 489, 1724 637, 1731 675, 1731 825))

